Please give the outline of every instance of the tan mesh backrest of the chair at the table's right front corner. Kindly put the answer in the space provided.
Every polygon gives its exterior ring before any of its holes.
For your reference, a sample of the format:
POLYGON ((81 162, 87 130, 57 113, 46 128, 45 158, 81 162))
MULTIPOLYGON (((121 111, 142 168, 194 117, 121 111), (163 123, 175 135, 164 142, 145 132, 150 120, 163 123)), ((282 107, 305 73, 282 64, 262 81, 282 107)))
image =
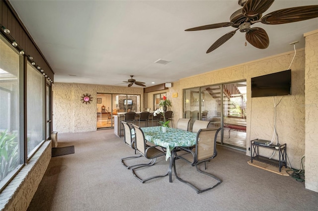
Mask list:
POLYGON ((197 162, 217 156, 216 140, 221 128, 200 129, 196 141, 197 162))

